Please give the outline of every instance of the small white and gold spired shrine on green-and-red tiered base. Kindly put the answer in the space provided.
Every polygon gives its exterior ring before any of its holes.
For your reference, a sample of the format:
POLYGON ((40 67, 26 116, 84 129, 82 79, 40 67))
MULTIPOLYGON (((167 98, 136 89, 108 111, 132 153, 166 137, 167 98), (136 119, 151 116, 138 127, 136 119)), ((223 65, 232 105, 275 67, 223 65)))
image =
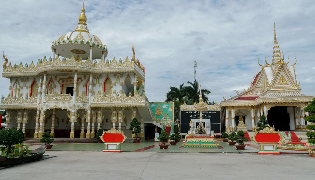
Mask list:
MULTIPOLYGON (((190 132, 185 136, 185 141, 182 144, 183 148, 218 148, 219 144, 214 142, 214 136, 211 134, 207 134, 207 130, 202 122, 202 112, 206 111, 207 107, 204 105, 202 94, 201 94, 201 86, 199 87, 199 102, 195 111, 199 111, 199 124, 193 132, 193 123, 190 121, 190 132)), ((209 132, 209 131, 208 131, 209 132)), ((211 131, 210 131, 211 132, 211 131)))

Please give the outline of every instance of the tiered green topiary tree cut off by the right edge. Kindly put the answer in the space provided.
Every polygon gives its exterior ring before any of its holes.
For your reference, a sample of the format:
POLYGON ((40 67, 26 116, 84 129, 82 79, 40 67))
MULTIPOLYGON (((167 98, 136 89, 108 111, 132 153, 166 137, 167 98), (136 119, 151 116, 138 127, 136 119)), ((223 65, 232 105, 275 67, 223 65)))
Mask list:
MULTIPOLYGON (((315 98, 310 102, 310 104, 304 108, 306 112, 315 113, 315 98)), ((310 132, 306 133, 307 141, 311 144, 315 144, 315 116, 306 116, 305 121, 308 121, 310 124, 306 126, 307 129, 310 129, 310 132)))

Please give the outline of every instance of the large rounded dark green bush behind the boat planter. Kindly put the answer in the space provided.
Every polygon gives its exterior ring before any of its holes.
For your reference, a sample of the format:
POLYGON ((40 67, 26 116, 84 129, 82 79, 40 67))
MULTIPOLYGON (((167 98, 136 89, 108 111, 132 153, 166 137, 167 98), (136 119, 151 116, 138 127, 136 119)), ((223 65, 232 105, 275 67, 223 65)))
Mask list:
POLYGON ((3 129, 0 131, 0 145, 9 147, 8 151, 10 151, 10 147, 12 145, 18 144, 22 141, 23 141, 22 134, 15 129, 3 129))

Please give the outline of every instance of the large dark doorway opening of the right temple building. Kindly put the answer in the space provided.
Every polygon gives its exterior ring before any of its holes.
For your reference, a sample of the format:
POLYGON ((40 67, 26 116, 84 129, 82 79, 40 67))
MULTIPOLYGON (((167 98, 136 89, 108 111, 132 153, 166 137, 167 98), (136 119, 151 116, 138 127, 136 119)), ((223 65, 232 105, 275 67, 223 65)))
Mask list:
POLYGON ((268 110, 267 120, 269 125, 275 126, 276 131, 290 131, 290 116, 288 106, 276 106, 268 110))

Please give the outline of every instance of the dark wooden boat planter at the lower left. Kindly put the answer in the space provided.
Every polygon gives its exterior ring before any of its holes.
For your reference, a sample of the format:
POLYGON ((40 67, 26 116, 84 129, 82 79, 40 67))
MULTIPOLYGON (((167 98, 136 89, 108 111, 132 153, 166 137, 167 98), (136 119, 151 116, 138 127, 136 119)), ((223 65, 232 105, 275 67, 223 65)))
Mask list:
POLYGON ((14 165, 14 164, 37 160, 37 159, 42 158, 44 153, 45 153, 45 150, 41 152, 32 152, 31 155, 25 156, 25 157, 17 157, 17 158, 0 157, 0 166, 14 165))

